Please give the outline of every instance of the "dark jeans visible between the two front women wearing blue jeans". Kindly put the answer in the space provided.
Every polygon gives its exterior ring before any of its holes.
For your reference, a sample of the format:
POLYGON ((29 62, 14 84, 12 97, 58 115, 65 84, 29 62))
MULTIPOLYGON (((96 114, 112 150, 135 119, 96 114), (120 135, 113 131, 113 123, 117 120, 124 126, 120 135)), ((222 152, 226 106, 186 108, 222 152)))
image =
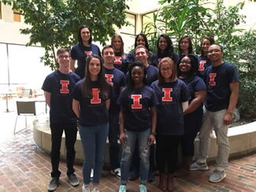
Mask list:
POLYGON ((109 113, 109 158, 112 170, 120 168, 120 145, 118 144, 119 135, 119 113, 109 113))

